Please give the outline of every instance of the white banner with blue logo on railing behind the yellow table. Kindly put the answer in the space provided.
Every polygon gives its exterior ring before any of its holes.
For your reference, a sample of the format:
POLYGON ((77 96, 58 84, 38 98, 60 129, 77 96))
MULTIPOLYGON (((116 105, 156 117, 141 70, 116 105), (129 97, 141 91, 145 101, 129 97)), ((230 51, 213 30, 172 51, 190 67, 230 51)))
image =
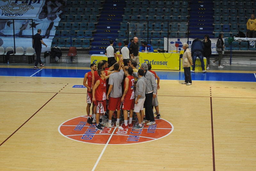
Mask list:
MULTIPOLYGON (((191 50, 191 45, 194 40, 195 39, 193 39, 193 38, 169 38, 169 43, 168 43, 168 40, 165 37, 164 38, 164 50, 167 50, 167 45, 168 45, 169 51, 171 51, 171 50, 175 51, 175 50, 177 50, 177 47, 178 47, 178 51, 181 51, 181 50, 183 50, 183 48, 182 48, 183 43, 188 43, 188 48, 191 50)), ((212 54, 218 54, 218 52, 216 51, 216 44, 217 44, 218 39, 210 39, 210 40, 212 42, 212 54)), ((201 41, 203 41, 203 40, 201 40, 201 41)))

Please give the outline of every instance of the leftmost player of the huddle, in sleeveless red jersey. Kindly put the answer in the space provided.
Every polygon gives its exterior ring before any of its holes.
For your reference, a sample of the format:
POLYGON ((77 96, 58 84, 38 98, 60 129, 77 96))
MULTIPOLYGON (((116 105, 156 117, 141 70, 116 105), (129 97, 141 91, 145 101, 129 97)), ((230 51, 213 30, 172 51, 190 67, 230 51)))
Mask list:
MULTIPOLYGON (((92 104, 92 111, 94 108, 94 103, 92 103, 92 74, 94 71, 96 71, 97 65, 95 63, 91 64, 91 71, 87 72, 84 75, 84 86, 87 88, 87 107, 86 107, 86 112, 87 112, 87 123, 92 124, 92 120, 90 118, 90 107, 92 104), (86 84, 87 81, 87 84, 86 84)), ((92 113, 93 115, 93 113, 92 113)))

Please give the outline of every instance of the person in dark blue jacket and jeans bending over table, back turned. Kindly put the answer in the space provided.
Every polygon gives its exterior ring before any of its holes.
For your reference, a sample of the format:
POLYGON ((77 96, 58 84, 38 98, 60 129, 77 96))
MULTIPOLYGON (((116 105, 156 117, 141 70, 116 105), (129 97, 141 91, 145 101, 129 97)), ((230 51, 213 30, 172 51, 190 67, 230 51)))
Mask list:
POLYGON ((199 40, 199 38, 196 38, 191 45, 191 54, 192 54, 192 60, 193 60, 193 65, 192 65, 192 72, 195 72, 195 67, 196 67, 196 57, 198 56, 200 61, 201 61, 201 67, 203 72, 206 72, 204 70, 204 44, 202 41, 199 40))

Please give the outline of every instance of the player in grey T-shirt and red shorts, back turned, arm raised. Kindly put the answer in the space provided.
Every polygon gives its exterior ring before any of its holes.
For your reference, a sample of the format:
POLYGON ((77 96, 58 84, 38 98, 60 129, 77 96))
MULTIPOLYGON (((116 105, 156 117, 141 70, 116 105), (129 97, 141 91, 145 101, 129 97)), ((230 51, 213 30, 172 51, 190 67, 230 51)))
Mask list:
MULTIPOLYGON (((122 60, 122 58, 120 59, 122 60)), ((117 121, 116 121, 116 127, 119 127, 120 122, 120 113, 121 113, 121 97, 122 97, 122 85, 124 79, 124 71, 120 70, 121 61, 119 64, 114 64, 114 70, 115 72, 109 76, 108 84, 108 123, 106 123, 104 126, 111 128, 111 122, 112 122, 112 115, 113 111, 117 110, 117 121), (120 70, 120 71, 119 71, 120 70), (109 95, 110 94, 110 95, 109 95), (110 96, 110 97, 109 97, 110 96)))

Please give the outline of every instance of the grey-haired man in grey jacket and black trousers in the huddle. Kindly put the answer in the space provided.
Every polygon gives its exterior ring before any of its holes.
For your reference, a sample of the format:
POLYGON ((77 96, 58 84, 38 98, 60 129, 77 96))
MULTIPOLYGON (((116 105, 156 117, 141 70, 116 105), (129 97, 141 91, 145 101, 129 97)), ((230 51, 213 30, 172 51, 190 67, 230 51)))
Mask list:
MULTIPOLYGON (((157 90, 157 83, 154 74, 148 71, 147 63, 142 63, 140 69, 144 71, 144 77, 147 79, 146 81, 146 100, 144 102, 145 106, 145 116, 146 120, 143 123, 147 123, 147 125, 156 124, 154 119, 154 114, 152 110, 152 99, 156 98, 156 90, 157 90)), ((138 73, 133 72, 132 74, 134 77, 138 77, 138 73)))

